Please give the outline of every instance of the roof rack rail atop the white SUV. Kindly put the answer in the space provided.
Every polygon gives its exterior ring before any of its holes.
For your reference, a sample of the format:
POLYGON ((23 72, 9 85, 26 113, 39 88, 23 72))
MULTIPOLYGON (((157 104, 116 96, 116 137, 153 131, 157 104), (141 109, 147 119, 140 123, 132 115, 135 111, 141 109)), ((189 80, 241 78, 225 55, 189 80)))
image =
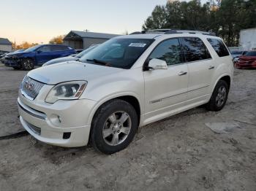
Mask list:
POLYGON ((144 31, 136 31, 132 34, 203 34, 203 35, 210 35, 216 36, 214 33, 206 32, 206 31, 192 31, 192 30, 180 30, 180 29, 151 29, 151 30, 144 30, 144 31))

